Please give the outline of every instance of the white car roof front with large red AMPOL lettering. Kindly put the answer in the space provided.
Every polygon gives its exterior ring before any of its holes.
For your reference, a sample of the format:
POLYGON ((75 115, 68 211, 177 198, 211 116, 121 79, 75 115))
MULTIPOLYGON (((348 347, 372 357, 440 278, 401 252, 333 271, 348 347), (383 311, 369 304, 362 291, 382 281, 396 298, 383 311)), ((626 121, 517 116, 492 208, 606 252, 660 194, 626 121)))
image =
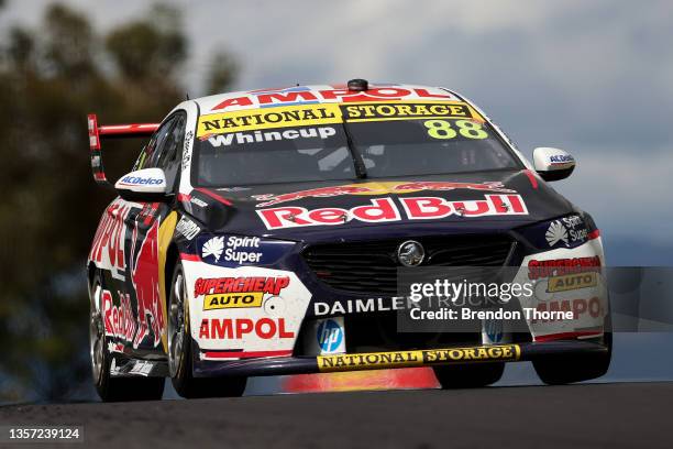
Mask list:
POLYGON ((346 84, 336 84, 240 90, 194 99, 199 106, 201 114, 291 105, 386 100, 441 101, 462 100, 462 98, 457 94, 441 87, 368 84, 366 90, 349 90, 346 84))

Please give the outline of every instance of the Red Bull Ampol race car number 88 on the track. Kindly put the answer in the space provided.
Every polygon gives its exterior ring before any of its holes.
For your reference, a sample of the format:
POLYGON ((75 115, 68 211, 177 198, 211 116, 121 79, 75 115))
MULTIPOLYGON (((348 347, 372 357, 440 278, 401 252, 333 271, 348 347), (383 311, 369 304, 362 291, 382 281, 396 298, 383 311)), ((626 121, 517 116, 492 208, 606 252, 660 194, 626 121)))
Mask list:
POLYGON ((353 79, 186 100, 161 123, 89 114, 88 130, 107 186, 101 140, 148 136, 87 262, 103 401, 161 398, 165 377, 203 397, 261 375, 429 366, 450 388, 493 384, 507 362, 548 384, 609 366, 599 230, 548 185, 575 160, 529 162, 457 92, 353 79), (533 295, 510 311, 566 319, 399 327, 420 307, 402 274, 465 266, 514 270, 533 295))

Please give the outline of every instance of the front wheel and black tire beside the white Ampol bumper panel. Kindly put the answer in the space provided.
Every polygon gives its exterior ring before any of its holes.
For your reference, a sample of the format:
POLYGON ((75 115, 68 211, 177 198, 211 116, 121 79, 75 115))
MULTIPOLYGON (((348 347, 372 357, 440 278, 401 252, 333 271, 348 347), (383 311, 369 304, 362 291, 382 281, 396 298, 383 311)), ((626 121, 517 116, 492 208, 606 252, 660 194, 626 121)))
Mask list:
POLYGON ((177 261, 168 295, 168 370, 173 387, 185 398, 242 396, 247 377, 195 377, 194 341, 189 330, 183 264, 177 261))

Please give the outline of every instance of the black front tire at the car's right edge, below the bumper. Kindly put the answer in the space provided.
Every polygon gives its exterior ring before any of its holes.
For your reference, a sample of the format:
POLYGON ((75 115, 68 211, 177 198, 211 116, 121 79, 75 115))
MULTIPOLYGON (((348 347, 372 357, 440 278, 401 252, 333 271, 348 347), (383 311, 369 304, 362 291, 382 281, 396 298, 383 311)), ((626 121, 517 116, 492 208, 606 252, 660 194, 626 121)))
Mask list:
MULTIPOLYGON (((611 330, 611 328, 608 328, 611 330)), ((600 377, 610 368, 613 332, 604 335, 608 351, 599 354, 555 355, 533 361, 538 376, 548 385, 564 385, 600 377)))

